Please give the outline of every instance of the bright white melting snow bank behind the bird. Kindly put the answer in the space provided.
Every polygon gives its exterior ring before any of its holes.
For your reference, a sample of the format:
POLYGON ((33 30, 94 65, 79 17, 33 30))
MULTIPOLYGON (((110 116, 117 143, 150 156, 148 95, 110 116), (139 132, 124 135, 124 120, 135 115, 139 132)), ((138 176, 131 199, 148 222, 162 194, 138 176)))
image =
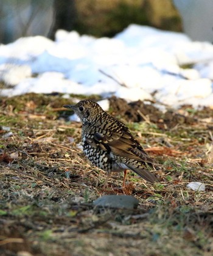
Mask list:
POLYGON ((212 59, 211 43, 147 26, 132 24, 114 38, 60 30, 55 42, 35 36, 0 45, 0 80, 14 86, 0 94, 95 93, 213 106, 212 59))

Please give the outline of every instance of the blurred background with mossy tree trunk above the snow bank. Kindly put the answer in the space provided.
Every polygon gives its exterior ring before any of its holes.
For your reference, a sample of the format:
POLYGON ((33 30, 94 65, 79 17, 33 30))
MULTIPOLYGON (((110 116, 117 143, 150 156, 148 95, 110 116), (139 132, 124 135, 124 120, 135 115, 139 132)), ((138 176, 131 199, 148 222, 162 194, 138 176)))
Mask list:
POLYGON ((113 37, 128 24, 184 31, 193 40, 213 39, 212 0, 1 0, 0 43, 57 29, 113 37))

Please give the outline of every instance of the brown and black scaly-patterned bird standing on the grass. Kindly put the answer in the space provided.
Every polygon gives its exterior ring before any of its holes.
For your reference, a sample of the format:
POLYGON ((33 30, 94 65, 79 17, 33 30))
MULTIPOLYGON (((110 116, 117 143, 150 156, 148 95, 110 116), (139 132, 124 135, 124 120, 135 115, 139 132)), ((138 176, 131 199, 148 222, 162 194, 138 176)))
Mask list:
POLYGON ((107 172, 103 188, 111 172, 124 172, 123 187, 127 170, 132 170, 144 180, 154 183, 158 178, 149 169, 155 161, 148 156, 128 127, 112 115, 103 111, 92 100, 64 105, 75 112, 82 122, 83 152, 95 166, 107 172))

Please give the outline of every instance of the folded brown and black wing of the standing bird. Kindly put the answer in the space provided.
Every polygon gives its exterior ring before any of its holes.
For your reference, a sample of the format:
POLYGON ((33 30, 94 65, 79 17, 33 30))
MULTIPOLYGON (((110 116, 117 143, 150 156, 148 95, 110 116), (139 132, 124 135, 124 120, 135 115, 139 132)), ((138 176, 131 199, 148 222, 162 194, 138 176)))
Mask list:
POLYGON ((114 155, 130 158, 145 163, 154 163, 138 141, 134 139, 128 128, 122 128, 119 131, 111 131, 102 135, 94 133, 91 137, 86 137, 86 142, 93 147, 100 147, 102 150, 112 152, 114 155))

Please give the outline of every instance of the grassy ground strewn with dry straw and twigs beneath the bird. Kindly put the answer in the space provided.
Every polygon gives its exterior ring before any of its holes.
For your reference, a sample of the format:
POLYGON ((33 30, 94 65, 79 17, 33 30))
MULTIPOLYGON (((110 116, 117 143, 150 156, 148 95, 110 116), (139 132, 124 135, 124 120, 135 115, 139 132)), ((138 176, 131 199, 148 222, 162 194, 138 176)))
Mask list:
POLYGON ((212 109, 163 113, 111 98, 110 114, 155 158, 159 183, 129 172, 124 189, 113 174, 103 190, 106 174, 83 155, 81 125, 62 107, 72 97, 0 98, 1 255, 212 255, 212 109), (133 195, 139 206, 94 207, 104 194, 133 195))

